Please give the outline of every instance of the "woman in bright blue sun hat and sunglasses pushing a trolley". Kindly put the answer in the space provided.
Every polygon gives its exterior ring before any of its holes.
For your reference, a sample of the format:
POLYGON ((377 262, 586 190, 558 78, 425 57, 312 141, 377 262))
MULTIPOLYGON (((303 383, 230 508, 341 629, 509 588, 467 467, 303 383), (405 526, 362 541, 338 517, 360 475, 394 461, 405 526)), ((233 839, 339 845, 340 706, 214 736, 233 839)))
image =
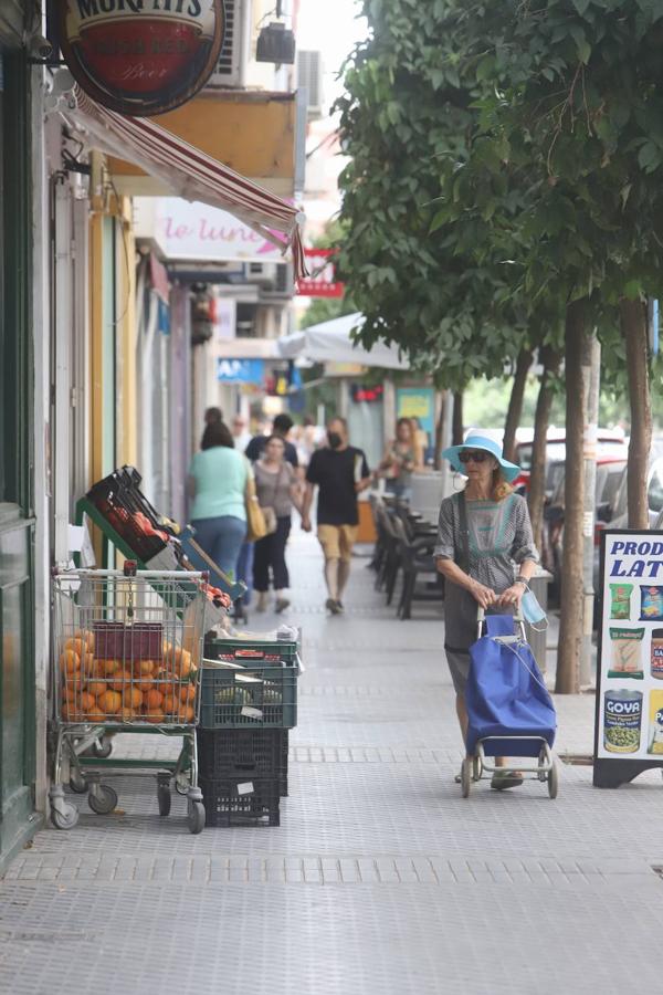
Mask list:
MULTIPOLYGON (((476 641, 477 609, 481 607, 486 614, 514 614, 539 557, 527 503, 511 486, 520 468, 504 459, 502 447, 494 439, 472 431, 463 446, 452 446, 442 455, 456 473, 467 478, 464 490, 445 498, 440 505, 433 553, 445 579, 444 651, 464 742, 465 684, 470 647, 476 641)), ((501 761, 498 757, 497 766, 501 761)), ((515 787, 522 781, 518 774, 497 773, 491 786, 499 790, 515 787)))

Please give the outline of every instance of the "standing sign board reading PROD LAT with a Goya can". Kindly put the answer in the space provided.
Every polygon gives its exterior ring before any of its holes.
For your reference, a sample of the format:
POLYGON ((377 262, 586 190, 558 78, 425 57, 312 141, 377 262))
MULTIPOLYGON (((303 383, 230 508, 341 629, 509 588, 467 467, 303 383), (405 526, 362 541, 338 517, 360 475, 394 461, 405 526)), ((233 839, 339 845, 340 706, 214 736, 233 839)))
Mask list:
POLYGON ((593 783, 663 767, 663 532, 601 535, 593 783))

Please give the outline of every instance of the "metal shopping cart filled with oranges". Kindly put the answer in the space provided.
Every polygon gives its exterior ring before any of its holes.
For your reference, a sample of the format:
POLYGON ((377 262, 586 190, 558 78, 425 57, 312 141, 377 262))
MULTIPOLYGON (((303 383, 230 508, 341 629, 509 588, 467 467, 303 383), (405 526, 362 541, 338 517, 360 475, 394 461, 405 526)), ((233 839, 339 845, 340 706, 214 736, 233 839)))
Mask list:
POLYGON ((190 831, 200 832, 196 723, 208 575, 137 570, 135 563, 57 570, 53 600, 53 825, 71 829, 78 820, 65 786, 105 815, 118 803, 108 777, 149 773, 160 815, 170 811, 173 785, 187 796, 190 831), (178 736, 181 748, 165 758, 110 757, 99 743, 116 733, 178 736))

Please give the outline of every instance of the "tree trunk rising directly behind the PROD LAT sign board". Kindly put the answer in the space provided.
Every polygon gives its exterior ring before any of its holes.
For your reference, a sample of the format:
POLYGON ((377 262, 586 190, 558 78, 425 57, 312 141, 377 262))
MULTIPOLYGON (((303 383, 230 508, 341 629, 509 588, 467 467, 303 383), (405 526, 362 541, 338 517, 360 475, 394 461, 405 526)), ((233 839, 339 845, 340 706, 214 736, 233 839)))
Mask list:
POLYGON ((627 373, 631 405, 628 502, 629 528, 649 528, 646 472, 652 444, 652 401, 649 378, 646 310, 642 301, 619 304, 627 343, 627 373))

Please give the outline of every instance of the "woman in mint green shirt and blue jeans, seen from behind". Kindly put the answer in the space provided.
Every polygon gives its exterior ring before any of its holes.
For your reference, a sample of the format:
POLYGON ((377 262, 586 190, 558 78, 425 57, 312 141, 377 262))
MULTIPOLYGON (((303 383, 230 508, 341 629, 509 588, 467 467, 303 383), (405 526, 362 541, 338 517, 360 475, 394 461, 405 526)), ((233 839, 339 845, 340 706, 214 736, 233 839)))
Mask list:
POLYGON ((196 453, 189 470, 191 525, 196 542, 233 577, 246 536, 244 493, 250 473, 249 461, 234 449, 228 426, 208 426, 202 450, 196 453))

